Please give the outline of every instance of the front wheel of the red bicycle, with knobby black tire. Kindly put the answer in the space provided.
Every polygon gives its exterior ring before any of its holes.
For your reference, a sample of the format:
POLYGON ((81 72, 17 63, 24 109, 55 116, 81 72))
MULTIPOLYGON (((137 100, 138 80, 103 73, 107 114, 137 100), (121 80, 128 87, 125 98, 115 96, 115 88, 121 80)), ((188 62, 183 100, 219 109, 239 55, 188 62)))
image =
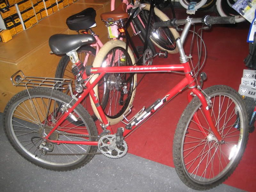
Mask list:
POLYGON ((196 190, 216 187, 232 174, 242 158, 249 132, 246 108, 234 89, 216 85, 204 93, 213 123, 225 143, 217 142, 197 97, 182 113, 173 140, 175 170, 184 184, 196 190), (240 127, 236 128, 237 124, 240 127))

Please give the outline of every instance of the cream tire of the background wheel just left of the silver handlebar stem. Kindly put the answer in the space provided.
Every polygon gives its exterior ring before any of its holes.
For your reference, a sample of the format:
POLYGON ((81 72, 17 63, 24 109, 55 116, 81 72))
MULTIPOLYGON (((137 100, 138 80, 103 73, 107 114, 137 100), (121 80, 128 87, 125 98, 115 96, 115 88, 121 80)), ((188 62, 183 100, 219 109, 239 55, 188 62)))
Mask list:
MULTIPOLYGON (((149 9, 150 9, 150 4, 145 4, 145 5, 146 5, 146 7, 145 7, 143 10, 149 11, 149 9)), ((156 15, 160 20, 162 20, 162 21, 170 20, 167 15, 165 15, 162 11, 160 11, 160 10, 157 9, 156 7, 154 8, 154 12, 155 12, 155 15, 156 15)), ((141 24, 140 24, 140 25, 141 25, 141 24)), ((147 25, 145 24, 145 26, 147 26, 147 25)), ((177 31, 175 28, 173 28, 173 27, 168 27, 168 28, 169 28, 169 30, 170 30, 172 36, 173 36, 173 40, 174 40, 174 41, 175 41, 178 37, 180 37, 180 34, 178 33, 178 31, 177 31)), ((174 53, 178 53, 178 52, 179 52, 177 46, 175 46, 175 49, 173 49, 173 50, 168 50, 168 49, 163 48, 163 47, 160 46, 159 44, 157 44, 156 41, 154 41, 153 38, 150 37, 150 39, 151 39, 151 41, 152 41, 158 48, 160 48, 161 50, 165 50, 165 51, 167 51, 168 53, 171 53, 171 54, 174 54, 174 53)))

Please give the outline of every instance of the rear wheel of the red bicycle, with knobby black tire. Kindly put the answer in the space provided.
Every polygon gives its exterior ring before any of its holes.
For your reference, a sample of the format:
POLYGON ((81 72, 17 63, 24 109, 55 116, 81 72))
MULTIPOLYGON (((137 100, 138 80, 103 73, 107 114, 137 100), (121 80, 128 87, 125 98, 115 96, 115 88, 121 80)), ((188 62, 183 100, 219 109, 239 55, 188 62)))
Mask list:
MULTIPOLYGON (((28 161, 55 171, 67 171, 87 164, 97 146, 55 144, 45 142, 49 151, 42 150, 43 128, 48 134, 63 113, 65 105, 74 104, 71 97, 47 88, 33 88, 17 93, 4 110, 4 131, 13 148, 28 161), (49 109, 49 110, 47 110, 49 109)), ((67 118, 49 137, 50 140, 96 141, 98 132, 91 116, 78 105, 72 115, 80 122, 73 124, 67 118), (84 136, 77 135, 83 134, 84 136)))

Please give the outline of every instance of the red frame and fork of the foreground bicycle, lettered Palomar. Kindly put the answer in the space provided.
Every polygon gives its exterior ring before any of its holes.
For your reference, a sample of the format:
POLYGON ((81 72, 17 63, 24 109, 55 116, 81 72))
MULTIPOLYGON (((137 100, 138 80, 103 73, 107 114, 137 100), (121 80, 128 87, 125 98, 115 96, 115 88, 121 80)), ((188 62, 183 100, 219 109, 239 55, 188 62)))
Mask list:
MULTIPOLYGON (((175 85, 169 92, 167 92, 163 99, 161 99, 161 102, 155 106, 145 118, 140 120, 137 124, 132 126, 131 129, 125 129, 123 136, 127 136, 129 133, 131 133, 136 127, 138 127, 140 124, 142 124, 144 121, 148 119, 151 115, 153 115, 158 109, 160 109, 167 101, 171 100, 172 97, 174 97, 177 93, 182 92, 182 90, 188 86, 190 91, 188 92, 188 101, 191 101, 193 96, 196 95, 199 100, 202 103, 202 108, 205 114, 205 117, 208 121, 208 124, 210 126, 211 131, 217 138, 219 142, 222 141, 222 138, 217 131, 213 121, 212 116, 209 111, 209 105, 204 97, 204 95, 196 88, 195 79, 191 75, 191 68, 188 62, 178 64, 178 65, 154 65, 154 66, 124 66, 124 67, 101 67, 101 68, 91 68, 91 74, 100 74, 92 84, 88 81, 86 83, 87 89, 84 90, 84 92, 81 94, 81 96, 78 98, 76 103, 68 109, 67 112, 63 114, 63 116, 60 118, 60 120, 57 121, 55 126, 53 127, 52 131, 49 132, 49 134, 45 137, 46 140, 49 140, 50 135, 58 128, 58 126, 68 117, 68 115, 76 108, 76 106, 88 95, 90 94, 92 97, 92 100, 100 114, 102 123, 105 125, 108 125, 106 129, 108 129, 111 134, 113 134, 113 131, 111 129, 111 126, 108 124, 108 120, 103 112, 103 109, 99 103, 98 98, 95 95, 95 92, 93 91, 93 87, 99 83, 100 79, 106 74, 106 73, 150 73, 150 72, 172 72, 172 71, 183 71, 185 72, 185 77, 177 84, 175 85)), ((83 74, 83 79, 86 79, 87 75, 83 74)), ((203 127, 200 125, 200 120, 198 119, 197 115, 194 115, 196 119, 196 123, 198 124, 198 128, 202 131, 205 137, 207 137, 208 133, 204 131, 203 127)), ((81 144, 81 145, 98 145, 97 141, 60 141, 60 140, 49 140, 52 143, 66 143, 66 144, 81 144)))

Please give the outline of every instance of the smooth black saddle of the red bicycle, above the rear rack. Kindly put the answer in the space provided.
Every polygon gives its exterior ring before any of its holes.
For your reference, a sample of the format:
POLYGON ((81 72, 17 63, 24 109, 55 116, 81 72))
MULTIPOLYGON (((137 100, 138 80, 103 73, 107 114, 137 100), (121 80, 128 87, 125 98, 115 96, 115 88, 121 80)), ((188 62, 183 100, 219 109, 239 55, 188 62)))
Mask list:
POLYGON ((49 39, 49 46, 56 55, 65 54, 78 47, 96 42, 94 36, 89 34, 66 35, 55 34, 49 39))

